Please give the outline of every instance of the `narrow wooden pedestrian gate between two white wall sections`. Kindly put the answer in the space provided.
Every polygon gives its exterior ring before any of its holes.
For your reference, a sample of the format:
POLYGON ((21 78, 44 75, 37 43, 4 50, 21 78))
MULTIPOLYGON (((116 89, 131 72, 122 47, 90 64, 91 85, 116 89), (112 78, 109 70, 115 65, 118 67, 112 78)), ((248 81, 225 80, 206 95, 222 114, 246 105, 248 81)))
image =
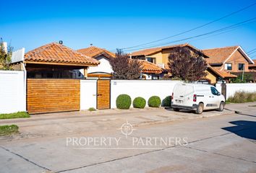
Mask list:
POLYGON ((97 109, 110 108, 110 80, 97 81, 97 109))

